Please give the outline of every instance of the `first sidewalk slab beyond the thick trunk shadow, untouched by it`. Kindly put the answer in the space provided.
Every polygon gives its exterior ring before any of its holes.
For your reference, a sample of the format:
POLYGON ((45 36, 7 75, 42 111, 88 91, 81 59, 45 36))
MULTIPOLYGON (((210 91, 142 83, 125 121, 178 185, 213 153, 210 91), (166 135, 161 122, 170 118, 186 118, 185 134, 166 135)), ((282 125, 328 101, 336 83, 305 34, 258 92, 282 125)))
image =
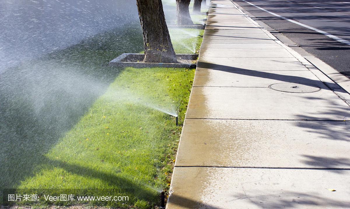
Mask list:
POLYGON ((201 49, 201 57, 273 57, 294 58, 286 49, 201 49))

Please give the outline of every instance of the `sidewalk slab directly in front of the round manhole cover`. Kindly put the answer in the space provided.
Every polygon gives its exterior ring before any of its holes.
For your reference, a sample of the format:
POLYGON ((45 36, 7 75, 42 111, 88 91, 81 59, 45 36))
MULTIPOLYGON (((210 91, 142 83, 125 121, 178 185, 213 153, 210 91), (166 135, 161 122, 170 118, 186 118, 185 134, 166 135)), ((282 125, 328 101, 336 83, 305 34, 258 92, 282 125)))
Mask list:
POLYGON ((193 87, 186 118, 343 121, 350 119, 350 107, 328 88, 289 93, 268 87, 193 87))

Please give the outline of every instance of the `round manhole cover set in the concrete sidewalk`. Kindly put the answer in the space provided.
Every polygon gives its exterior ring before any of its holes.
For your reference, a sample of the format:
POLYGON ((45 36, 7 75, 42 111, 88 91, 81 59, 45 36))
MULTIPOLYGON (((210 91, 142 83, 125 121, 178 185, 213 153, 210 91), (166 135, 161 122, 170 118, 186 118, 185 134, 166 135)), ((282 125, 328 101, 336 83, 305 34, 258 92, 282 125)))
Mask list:
POLYGON ((311 84, 296 84, 296 83, 279 83, 271 84, 269 88, 280 91, 280 92, 291 92, 291 93, 311 93, 320 91, 321 88, 311 84))

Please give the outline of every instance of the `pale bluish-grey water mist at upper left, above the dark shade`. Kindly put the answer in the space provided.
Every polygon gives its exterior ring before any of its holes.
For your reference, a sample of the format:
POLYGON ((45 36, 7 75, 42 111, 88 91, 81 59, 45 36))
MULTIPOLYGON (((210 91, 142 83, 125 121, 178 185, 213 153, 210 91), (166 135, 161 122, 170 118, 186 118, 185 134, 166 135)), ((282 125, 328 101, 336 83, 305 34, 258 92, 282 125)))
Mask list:
POLYGON ((0 72, 137 20, 135 0, 0 0, 0 72))

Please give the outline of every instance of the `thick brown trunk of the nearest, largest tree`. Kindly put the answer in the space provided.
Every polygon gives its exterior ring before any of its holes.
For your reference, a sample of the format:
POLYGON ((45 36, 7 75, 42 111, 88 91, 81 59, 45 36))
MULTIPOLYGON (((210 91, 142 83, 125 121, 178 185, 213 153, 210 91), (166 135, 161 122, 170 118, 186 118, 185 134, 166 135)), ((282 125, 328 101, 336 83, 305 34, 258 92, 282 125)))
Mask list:
POLYGON ((136 0, 144 35, 145 63, 177 63, 161 0, 136 0))

